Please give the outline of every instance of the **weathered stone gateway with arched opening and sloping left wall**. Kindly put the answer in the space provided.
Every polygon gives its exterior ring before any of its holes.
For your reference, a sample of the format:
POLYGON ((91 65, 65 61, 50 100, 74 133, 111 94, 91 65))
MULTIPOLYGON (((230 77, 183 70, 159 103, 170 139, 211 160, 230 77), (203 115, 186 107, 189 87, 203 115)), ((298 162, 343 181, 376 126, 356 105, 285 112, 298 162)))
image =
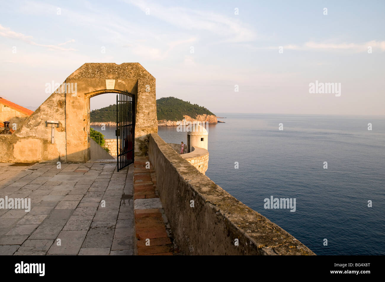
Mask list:
POLYGON ((139 63, 85 63, 12 135, 0 135, 0 162, 87 162, 90 98, 124 90, 135 95, 135 155, 147 154, 157 132, 155 78, 139 63))

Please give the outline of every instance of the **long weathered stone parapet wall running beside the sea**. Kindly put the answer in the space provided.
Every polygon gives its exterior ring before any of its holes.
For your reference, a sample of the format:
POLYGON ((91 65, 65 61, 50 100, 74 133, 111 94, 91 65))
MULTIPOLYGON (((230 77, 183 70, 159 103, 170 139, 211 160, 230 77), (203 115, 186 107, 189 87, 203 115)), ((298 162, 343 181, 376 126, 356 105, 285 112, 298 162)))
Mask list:
POLYGON ((149 160, 174 239, 184 254, 314 255, 201 174, 157 133, 149 138, 149 160))

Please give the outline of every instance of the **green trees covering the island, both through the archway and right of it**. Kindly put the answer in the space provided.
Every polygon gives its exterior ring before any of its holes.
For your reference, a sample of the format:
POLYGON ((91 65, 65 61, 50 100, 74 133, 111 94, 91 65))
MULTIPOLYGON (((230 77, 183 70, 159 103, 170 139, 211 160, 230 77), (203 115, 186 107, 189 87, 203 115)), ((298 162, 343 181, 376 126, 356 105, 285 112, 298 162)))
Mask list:
MULTIPOLYGON (((207 108, 198 104, 192 105, 174 97, 156 100, 158 120, 182 120, 184 115, 196 118, 197 115, 214 115, 207 108)), ((116 104, 90 112, 90 122, 116 122, 116 104)))

